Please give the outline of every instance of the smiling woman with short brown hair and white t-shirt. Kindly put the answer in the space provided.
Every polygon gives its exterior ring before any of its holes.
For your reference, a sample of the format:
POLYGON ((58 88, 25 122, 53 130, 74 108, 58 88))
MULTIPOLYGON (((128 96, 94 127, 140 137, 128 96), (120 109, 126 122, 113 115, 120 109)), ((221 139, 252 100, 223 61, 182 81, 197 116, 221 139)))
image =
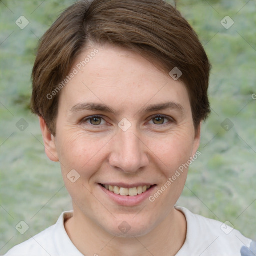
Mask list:
POLYGON ((175 206, 200 155, 209 70, 162 0, 66 9, 41 39, 31 105, 73 210, 6 255, 249 255, 239 231, 175 206))

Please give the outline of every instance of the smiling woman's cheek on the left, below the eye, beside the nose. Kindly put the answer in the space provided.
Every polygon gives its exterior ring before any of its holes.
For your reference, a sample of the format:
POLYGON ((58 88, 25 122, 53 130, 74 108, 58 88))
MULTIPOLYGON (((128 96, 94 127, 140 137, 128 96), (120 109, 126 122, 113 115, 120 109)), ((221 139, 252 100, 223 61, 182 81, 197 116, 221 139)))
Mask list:
POLYGON ((88 198, 91 198, 91 189, 88 183, 93 182, 91 177, 102 163, 100 149, 106 139, 88 136, 84 131, 73 128, 59 133, 59 138, 57 148, 66 189, 74 202, 81 200, 90 206, 88 198))

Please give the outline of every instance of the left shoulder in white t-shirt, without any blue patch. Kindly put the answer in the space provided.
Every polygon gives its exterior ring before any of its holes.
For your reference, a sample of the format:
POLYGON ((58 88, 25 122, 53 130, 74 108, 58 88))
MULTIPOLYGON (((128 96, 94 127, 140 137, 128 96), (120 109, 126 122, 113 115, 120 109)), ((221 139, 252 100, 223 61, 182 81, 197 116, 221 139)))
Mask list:
POLYGON ((72 215, 71 211, 62 212, 56 224, 14 246, 4 256, 54 256, 65 255, 68 251, 71 251, 70 255, 81 255, 64 228, 64 220, 70 215, 72 215))

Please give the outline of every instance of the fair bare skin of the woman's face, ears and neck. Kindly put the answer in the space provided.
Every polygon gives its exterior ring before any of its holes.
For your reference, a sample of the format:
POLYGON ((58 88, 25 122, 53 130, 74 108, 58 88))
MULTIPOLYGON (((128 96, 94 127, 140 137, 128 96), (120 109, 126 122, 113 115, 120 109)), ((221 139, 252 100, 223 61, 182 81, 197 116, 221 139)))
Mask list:
POLYGON ((147 182, 156 184, 153 195, 196 153, 200 126, 196 135, 187 90, 141 56, 108 44, 87 48, 73 67, 94 48, 99 52, 61 90, 56 136, 40 117, 45 152, 60 162, 72 197, 74 213, 65 229, 86 255, 175 255, 186 236, 185 217, 174 205, 187 169, 154 202, 147 198, 136 206, 118 205, 98 183, 147 182), (143 111, 169 101, 183 111, 143 111), (117 113, 71 111, 87 102, 111 106, 117 113), (95 114, 102 119, 84 120, 95 114), (127 131, 118 127, 123 118, 131 124, 127 131), (67 178, 72 169, 80 175, 74 183, 67 178), (118 228, 123 221, 130 226, 125 234, 118 228))

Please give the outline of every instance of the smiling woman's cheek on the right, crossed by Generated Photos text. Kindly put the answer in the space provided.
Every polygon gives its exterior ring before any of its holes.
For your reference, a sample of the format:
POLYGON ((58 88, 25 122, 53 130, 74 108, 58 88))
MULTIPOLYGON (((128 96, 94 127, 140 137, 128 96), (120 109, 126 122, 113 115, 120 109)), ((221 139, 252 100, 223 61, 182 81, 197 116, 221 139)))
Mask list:
POLYGON ((158 141, 157 146, 152 142, 151 148, 160 159, 157 166, 162 173, 162 179, 158 190, 149 200, 162 212, 169 212, 185 185, 188 161, 193 151, 193 139, 189 133, 176 133, 158 141))

